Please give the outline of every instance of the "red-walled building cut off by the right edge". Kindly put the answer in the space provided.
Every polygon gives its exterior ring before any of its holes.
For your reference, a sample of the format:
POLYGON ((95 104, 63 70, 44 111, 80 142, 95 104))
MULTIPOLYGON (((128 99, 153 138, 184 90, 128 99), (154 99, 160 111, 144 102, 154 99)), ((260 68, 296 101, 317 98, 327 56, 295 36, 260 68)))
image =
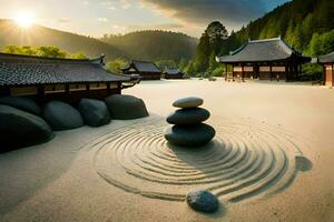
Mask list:
POLYGON ((334 87, 334 52, 318 57, 318 63, 323 64, 325 85, 334 87))

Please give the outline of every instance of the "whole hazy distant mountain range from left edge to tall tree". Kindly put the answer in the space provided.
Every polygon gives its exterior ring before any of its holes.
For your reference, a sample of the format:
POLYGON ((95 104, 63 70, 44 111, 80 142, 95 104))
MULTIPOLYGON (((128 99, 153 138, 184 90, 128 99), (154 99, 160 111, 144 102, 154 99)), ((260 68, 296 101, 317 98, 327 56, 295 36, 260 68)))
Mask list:
POLYGON ((13 21, 0 19, 0 51, 8 44, 55 46, 70 53, 82 52, 90 58, 104 53, 107 60, 159 61, 190 59, 197 42, 197 39, 186 34, 167 31, 139 31, 95 39, 37 24, 22 30, 13 21))

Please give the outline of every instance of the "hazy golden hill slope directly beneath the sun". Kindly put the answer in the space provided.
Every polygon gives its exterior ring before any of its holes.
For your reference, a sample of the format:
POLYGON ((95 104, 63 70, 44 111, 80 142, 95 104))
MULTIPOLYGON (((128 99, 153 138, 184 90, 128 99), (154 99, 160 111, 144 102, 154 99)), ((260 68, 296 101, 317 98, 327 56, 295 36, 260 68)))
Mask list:
POLYGON ((70 53, 82 52, 88 57, 105 53, 108 60, 126 57, 125 52, 97 39, 63 32, 41 26, 22 30, 10 20, 0 20, 0 51, 4 46, 56 46, 70 53))

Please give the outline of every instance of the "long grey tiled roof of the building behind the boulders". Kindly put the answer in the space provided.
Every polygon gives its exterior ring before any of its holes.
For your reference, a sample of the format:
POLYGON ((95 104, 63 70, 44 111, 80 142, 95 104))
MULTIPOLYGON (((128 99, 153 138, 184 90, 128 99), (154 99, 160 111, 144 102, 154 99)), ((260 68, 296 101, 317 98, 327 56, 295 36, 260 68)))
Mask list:
POLYGON ((105 70, 102 57, 94 60, 73 60, 0 53, 0 85, 128 80, 128 77, 105 70))

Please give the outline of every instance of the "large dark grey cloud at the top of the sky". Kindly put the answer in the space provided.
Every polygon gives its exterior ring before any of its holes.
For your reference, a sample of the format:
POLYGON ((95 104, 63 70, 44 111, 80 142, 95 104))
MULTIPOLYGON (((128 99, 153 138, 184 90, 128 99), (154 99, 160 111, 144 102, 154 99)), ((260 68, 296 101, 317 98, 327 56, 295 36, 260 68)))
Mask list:
POLYGON ((287 0, 141 0, 141 3, 184 23, 206 24, 219 20, 234 27, 263 16, 275 1, 287 0))

